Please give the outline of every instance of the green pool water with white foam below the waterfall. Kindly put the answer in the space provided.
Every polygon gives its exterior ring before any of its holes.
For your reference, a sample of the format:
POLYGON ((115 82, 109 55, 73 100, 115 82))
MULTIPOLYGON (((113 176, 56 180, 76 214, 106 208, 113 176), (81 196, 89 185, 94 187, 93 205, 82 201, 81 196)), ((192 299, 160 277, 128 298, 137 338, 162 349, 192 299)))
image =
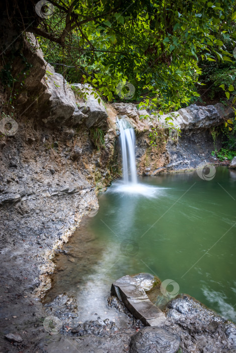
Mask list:
POLYGON ((167 295, 177 288, 236 322, 236 171, 218 167, 208 181, 191 172, 139 182, 138 193, 116 182, 99 196, 98 213, 56 259, 47 301, 66 291, 77 297, 81 321, 122 322, 107 307, 111 283, 149 272, 174 281, 167 295))

